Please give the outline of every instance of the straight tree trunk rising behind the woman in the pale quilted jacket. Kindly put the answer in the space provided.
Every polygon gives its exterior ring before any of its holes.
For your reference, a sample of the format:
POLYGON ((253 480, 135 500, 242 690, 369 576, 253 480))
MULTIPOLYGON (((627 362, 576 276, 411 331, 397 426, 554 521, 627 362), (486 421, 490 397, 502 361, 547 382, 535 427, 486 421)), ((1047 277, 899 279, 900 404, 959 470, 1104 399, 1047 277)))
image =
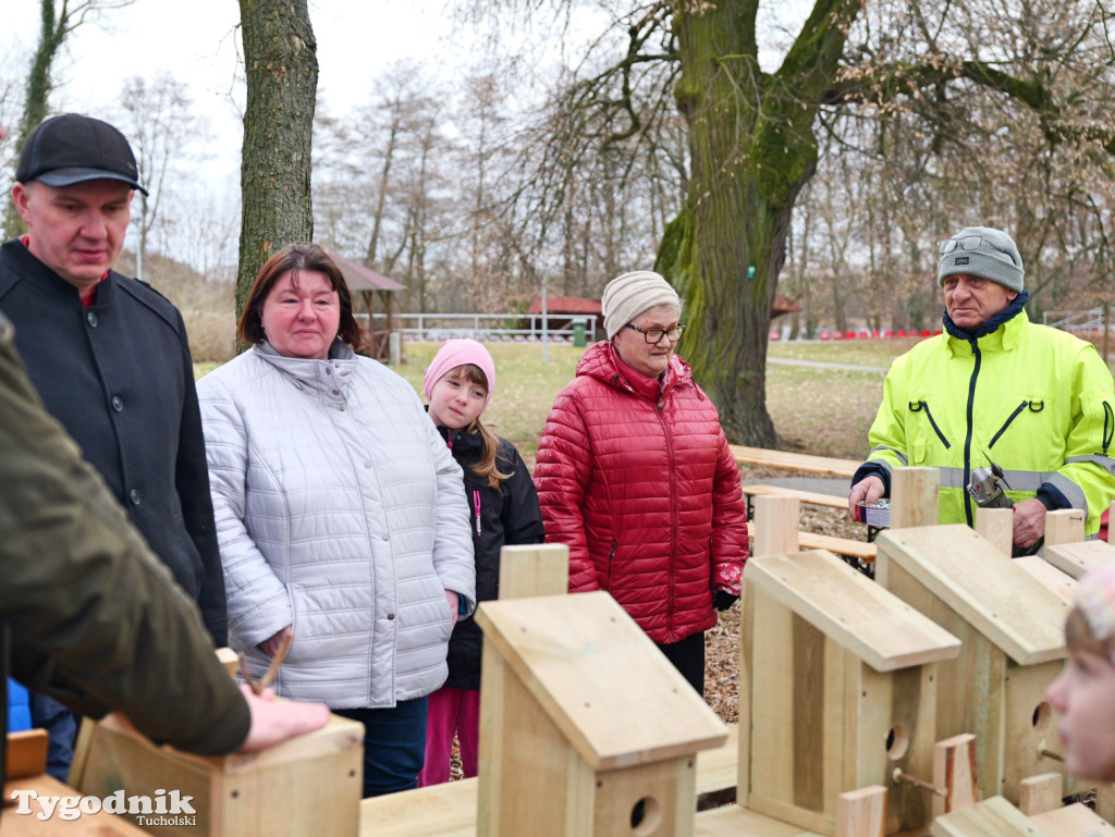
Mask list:
POLYGON ((240 0, 248 106, 240 184, 243 215, 236 312, 263 262, 313 237, 310 149, 318 42, 307 0, 240 0))

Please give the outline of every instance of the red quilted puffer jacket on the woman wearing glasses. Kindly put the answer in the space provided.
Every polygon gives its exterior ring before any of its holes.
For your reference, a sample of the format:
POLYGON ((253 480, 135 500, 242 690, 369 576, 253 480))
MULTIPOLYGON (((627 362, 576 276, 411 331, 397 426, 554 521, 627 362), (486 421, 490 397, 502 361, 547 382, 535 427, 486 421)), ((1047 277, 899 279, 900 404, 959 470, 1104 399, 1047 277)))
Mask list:
POLYGON ((712 402, 677 356, 666 383, 591 347, 554 401, 534 470, 546 541, 571 593, 607 590, 657 643, 716 624, 739 594, 747 509, 712 402))

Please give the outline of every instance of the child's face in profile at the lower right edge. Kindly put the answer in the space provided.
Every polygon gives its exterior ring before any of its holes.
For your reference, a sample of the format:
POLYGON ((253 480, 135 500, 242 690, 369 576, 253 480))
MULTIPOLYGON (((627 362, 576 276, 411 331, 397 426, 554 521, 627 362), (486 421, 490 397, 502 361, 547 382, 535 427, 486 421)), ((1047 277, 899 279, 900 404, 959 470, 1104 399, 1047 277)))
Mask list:
POLYGON ((1060 712, 1057 731, 1065 767, 1074 776, 1115 780, 1115 664, 1090 651, 1069 650, 1060 675, 1046 690, 1060 712))

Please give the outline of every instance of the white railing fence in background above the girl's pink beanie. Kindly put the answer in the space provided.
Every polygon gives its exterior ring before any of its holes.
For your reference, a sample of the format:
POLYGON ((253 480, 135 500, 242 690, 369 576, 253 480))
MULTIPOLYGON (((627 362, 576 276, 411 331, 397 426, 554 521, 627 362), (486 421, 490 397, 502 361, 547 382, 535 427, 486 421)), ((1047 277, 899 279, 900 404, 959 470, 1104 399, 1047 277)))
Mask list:
MULTIPOLYGON (((368 315, 355 314, 367 328, 368 315)), ((387 328, 387 314, 375 313, 376 329, 387 328)), ((482 342, 572 342, 578 320, 584 321, 585 339, 598 340, 595 314, 394 314, 395 331, 406 340, 438 342, 450 338, 472 338, 482 342), (560 325, 561 328, 554 328, 560 325), (525 328, 524 328, 525 327, 525 328)))

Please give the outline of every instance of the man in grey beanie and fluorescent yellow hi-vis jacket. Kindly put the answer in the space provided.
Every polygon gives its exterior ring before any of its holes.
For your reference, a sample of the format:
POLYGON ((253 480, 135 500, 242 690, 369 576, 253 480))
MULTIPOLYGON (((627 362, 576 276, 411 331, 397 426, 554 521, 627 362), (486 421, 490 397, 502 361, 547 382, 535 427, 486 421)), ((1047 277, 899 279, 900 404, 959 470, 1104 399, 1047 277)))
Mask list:
POLYGON ((944 331, 894 360, 849 507, 890 496, 894 468, 941 470, 940 522, 976 520, 971 473, 999 466, 1015 546, 1045 534, 1047 509, 1085 512, 1095 537, 1115 496, 1112 376, 1090 343, 1026 315, 1022 260, 999 230, 966 227, 939 245, 944 331))

